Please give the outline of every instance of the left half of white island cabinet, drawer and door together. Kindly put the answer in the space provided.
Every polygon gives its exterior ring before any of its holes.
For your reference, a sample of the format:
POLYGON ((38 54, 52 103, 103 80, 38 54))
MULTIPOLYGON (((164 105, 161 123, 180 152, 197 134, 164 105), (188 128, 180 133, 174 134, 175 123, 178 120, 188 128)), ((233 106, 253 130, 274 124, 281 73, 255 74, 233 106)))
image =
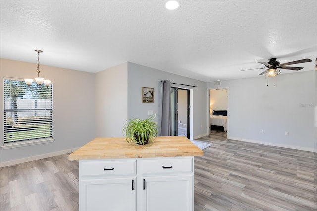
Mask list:
POLYGON ((80 211, 135 211, 136 159, 80 160, 80 211))

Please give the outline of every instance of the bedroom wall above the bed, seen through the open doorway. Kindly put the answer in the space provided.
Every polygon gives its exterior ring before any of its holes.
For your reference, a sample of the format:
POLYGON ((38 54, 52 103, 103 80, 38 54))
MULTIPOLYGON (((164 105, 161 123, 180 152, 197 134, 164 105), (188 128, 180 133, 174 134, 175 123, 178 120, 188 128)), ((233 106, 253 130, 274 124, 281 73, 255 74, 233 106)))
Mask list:
POLYGON ((210 106, 211 110, 228 110, 228 91, 210 90, 210 106))

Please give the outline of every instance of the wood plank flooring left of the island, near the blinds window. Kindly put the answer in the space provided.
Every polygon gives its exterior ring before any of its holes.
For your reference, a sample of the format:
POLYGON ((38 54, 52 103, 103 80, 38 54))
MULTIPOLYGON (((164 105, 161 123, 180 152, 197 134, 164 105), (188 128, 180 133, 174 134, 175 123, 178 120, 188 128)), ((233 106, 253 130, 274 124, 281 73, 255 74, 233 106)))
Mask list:
POLYGON ((0 168, 0 211, 78 211, 78 161, 68 154, 0 168))

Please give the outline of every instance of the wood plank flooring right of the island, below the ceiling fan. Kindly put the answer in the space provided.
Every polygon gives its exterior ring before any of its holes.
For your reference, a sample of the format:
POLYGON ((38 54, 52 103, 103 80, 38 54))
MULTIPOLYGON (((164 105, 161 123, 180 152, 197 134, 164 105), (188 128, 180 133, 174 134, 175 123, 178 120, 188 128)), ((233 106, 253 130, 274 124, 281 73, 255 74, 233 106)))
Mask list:
POLYGON ((195 157, 195 211, 317 211, 317 153, 233 141, 195 157))

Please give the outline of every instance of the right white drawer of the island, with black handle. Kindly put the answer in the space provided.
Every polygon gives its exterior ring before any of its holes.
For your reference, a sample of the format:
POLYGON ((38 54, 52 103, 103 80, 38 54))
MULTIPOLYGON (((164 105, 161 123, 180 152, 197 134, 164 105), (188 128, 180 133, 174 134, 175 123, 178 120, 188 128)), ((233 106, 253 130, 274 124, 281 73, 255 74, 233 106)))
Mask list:
POLYGON ((144 159, 140 165, 142 174, 193 172, 193 158, 144 159))

